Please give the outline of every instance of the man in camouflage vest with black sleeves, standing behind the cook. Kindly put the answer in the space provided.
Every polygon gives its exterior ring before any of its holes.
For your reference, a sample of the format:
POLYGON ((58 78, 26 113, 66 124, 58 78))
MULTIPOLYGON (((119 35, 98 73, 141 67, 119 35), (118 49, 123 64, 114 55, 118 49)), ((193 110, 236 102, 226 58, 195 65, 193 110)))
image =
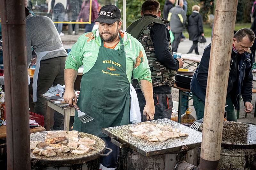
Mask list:
MULTIPOLYGON (((133 22, 126 32, 140 41, 148 58, 155 102, 154 119, 170 119, 173 107, 170 85, 174 85, 174 75, 184 62, 173 59, 170 33, 165 26, 168 21, 160 15, 159 2, 147 0, 141 6, 141 18, 133 22)), ((136 80, 133 80, 132 86, 136 89, 140 112, 143 113, 146 104, 143 93, 136 80)), ((146 121, 143 115, 142 121, 146 121)))

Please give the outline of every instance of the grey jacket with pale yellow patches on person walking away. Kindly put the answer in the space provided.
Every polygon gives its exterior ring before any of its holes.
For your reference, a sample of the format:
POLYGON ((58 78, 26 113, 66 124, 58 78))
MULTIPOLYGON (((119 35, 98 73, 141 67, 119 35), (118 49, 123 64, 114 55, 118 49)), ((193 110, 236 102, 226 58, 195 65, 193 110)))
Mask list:
POLYGON ((168 15, 170 16, 168 16, 168 20, 170 21, 172 32, 181 33, 187 22, 185 11, 179 5, 176 5, 169 11, 168 15))

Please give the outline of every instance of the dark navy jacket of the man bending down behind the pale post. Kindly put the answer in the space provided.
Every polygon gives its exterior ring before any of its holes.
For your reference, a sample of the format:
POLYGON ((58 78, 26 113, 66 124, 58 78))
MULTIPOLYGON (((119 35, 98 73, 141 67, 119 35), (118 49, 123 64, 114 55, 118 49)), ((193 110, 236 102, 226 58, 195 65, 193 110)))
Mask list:
MULTIPOLYGON (((190 83, 190 91, 204 102, 210 52, 211 44, 204 49, 202 59, 190 83)), ((242 95, 244 103, 252 101, 252 64, 253 58, 250 49, 243 54, 236 54, 232 50, 227 95, 231 96, 236 110, 239 110, 240 95, 242 95)))

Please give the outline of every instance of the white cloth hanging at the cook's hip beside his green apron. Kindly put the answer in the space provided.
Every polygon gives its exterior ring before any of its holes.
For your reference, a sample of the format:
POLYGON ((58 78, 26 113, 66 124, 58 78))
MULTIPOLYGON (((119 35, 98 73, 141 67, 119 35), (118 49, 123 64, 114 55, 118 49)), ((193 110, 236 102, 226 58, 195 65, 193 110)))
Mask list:
POLYGON ((130 98, 131 98, 131 110, 130 110, 130 121, 132 123, 141 122, 140 106, 138 101, 137 93, 130 83, 130 98))

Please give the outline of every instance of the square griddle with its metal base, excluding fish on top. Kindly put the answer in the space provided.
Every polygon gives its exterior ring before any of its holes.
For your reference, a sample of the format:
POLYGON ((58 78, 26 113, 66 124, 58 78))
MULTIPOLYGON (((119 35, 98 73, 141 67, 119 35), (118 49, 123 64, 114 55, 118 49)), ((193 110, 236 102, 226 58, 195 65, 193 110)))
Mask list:
POLYGON ((201 145, 202 133, 188 128, 170 119, 158 119, 145 123, 171 125, 188 133, 187 137, 169 138, 164 142, 149 142, 132 135, 128 129, 137 124, 109 127, 102 132, 111 137, 111 142, 120 147, 119 168, 122 170, 172 170, 175 165, 187 160, 197 165, 197 146, 201 145))

